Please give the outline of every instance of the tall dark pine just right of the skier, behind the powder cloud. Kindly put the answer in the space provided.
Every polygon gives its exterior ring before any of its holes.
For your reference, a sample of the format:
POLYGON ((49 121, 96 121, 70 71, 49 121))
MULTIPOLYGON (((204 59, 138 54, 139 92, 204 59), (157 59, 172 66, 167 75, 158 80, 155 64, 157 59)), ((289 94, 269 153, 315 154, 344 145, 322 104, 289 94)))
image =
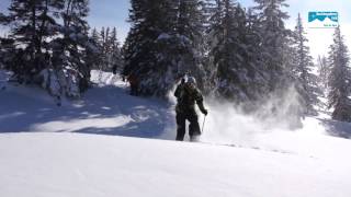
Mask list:
POLYGON ((242 85, 239 69, 242 69, 241 63, 245 61, 242 53, 239 54, 240 50, 245 51, 239 48, 244 45, 239 31, 245 28, 245 12, 236 9, 230 0, 217 1, 217 9, 213 19, 215 24, 213 24, 211 32, 214 35, 212 40, 217 43, 212 44, 211 55, 216 68, 216 91, 225 97, 242 96, 240 100, 247 99, 245 94, 241 94, 244 91, 239 88, 239 85, 242 85), (238 19, 238 16, 241 19, 238 19))

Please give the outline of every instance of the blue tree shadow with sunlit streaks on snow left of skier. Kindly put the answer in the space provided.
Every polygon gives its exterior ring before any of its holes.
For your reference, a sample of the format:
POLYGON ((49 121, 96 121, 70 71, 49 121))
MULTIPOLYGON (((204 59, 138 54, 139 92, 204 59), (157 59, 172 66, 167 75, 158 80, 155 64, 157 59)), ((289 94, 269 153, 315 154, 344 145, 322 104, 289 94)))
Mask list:
POLYGON ((81 101, 68 102, 61 107, 56 106, 41 89, 33 91, 44 99, 23 95, 19 91, 0 92, 0 132, 83 132, 158 138, 165 136, 168 124, 174 121, 169 103, 131 96, 120 86, 93 88, 81 101))

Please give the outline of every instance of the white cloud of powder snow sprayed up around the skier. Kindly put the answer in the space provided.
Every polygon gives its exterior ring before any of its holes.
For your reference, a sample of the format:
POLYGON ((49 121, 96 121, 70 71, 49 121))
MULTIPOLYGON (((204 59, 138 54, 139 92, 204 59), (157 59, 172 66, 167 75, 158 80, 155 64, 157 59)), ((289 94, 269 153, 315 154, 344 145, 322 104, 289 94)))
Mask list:
MULTIPOLYGON (((176 86, 174 86, 176 89, 176 86)), ((176 105, 174 90, 169 93, 169 101, 176 105)), ((199 124, 204 127, 201 141, 225 144, 257 146, 257 137, 270 132, 286 132, 302 129, 299 96, 295 89, 274 93, 262 101, 254 113, 244 113, 233 103, 205 99, 204 105, 210 114, 205 118, 199 111, 199 124), (205 124, 204 124, 205 121, 205 124), (203 125, 204 124, 204 125, 203 125)), ((173 107, 173 106, 172 106, 173 107)), ((176 121, 176 120, 174 120, 176 121)), ((176 125, 167 132, 176 132, 176 125)))

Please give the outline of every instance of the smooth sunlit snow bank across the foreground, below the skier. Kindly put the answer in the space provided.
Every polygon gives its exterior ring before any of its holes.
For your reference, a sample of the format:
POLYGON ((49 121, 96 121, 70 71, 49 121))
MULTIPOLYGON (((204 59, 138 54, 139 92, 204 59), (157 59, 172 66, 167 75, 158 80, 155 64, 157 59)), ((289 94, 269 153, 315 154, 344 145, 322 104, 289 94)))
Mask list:
POLYGON ((338 157, 79 134, 0 135, 0 155, 3 197, 351 195, 338 157))

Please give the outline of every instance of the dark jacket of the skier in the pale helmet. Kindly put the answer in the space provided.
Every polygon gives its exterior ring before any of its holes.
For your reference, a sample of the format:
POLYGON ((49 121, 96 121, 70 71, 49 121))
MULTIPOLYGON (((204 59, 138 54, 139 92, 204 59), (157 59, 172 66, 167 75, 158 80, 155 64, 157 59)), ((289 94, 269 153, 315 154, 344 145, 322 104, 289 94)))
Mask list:
POLYGON ((178 100, 178 104, 176 107, 177 113, 195 111, 195 102, 202 113, 206 112, 203 105, 203 96, 195 86, 191 86, 186 83, 181 83, 177 86, 174 96, 178 100))

